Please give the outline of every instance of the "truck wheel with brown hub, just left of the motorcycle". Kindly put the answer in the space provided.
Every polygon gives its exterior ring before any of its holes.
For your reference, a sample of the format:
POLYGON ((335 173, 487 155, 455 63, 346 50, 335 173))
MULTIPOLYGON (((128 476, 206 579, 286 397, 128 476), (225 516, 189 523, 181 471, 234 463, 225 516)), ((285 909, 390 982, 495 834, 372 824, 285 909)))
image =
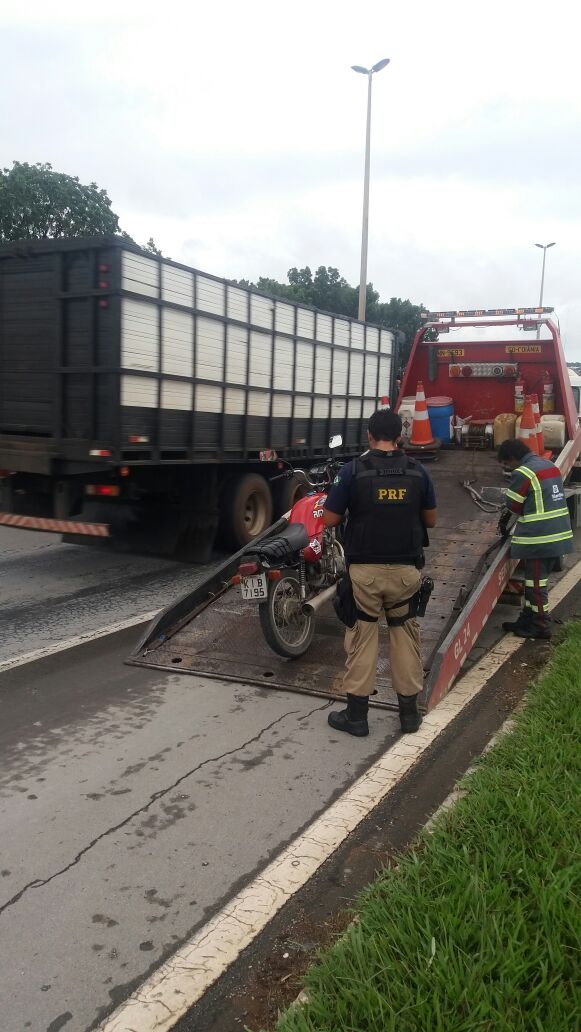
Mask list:
POLYGON ((237 551, 266 530, 272 522, 270 488, 258 473, 227 480, 222 488, 220 537, 237 551))

